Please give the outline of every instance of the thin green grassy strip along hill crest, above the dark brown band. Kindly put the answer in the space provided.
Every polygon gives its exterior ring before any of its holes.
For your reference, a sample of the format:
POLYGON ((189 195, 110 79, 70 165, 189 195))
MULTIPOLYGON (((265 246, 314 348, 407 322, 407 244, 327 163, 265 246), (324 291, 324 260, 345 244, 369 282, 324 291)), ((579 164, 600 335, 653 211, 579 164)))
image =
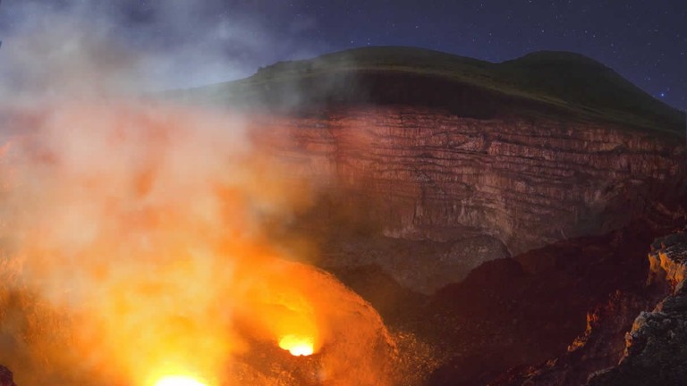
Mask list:
MULTIPOLYGON (((488 63, 421 48, 364 47, 310 60, 276 63, 244 80, 194 88, 185 91, 185 96, 214 100, 231 95, 250 96, 274 85, 355 72, 431 77, 513 100, 548 105, 580 119, 685 135, 684 113, 649 96, 601 63, 583 55, 555 51, 488 63)), ((337 87, 345 85, 331 86, 328 92, 337 92, 337 87)), ((294 92, 307 94, 310 90, 294 92)), ((526 113, 536 112, 523 112, 526 113)))

